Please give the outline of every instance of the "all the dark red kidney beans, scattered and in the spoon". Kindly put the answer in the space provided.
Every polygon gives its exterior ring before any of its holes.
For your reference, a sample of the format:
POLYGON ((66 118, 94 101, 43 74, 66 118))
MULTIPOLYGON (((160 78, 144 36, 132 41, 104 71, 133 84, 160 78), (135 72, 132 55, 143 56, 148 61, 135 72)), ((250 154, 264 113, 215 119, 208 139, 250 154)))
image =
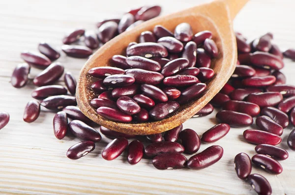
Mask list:
MULTIPOLYGON (((66 45, 61 50, 67 56, 88 57, 92 50, 118 33, 154 18, 160 12, 159 6, 130 10, 121 19, 97 23, 97 34, 82 28, 75 29, 62 39, 66 45), (83 40, 85 45, 71 45, 78 40, 83 40)), ((143 32, 139 37, 140 43, 129 44, 127 57, 113 56, 115 67, 97 67, 89 71, 97 78, 92 90, 99 93, 91 105, 102 116, 120 122, 167 117, 176 111, 179 104, 197 98, 206 88, 206 84, 201 82, 214 76, 210 64, 218 50, 211 38, 209 31, 193 36, 186 23, 179 24, 174 33, 162 26, 156 26, 153 32, 143 32), (200 87, 196 89, 196 86, 200 87), (111 87, 113 89, 109 90, 111 87), (161 111, 163 108, 168 108, 167 112, 161 111), (117 117, 103 114, 104 111, 112 111, 117 117), (128 120, 122 120, 118 113, 128 115, 128 120)), ((152 164, 158 169, 205 168, 221 159, 223 148, 213 145, 197 153, 201 142, 212 143, 222 139, 230 127, 250 126, 256 117, 259 129, 248 129, 243 136, 246 141, 257 145, 255 151, 258 154, 252 159, 245 153, 237 154, 235 169, 237 176, 248 182, 258 194, 270 195, 271 187, 266 178, 251 174, 252 163, 272 174, 280 174, 283 168, 278 161, 287 159, 289 154, 275 145, 281 142, 280 136, 289 121, 295 126, 295 86, 286 84, 284 74, 279 71, 284 67, 283 55, 295 60, 295 49, 282 54, 278 46, 272 44, 272 39, 273 35, 266 33, 248 42, 242 34, 236 33, 238 65, 232 78, 209 104, 194 115, 206 116, 214 107, 222 109, 216 114, 219 124, 207 130, 201 138, 192 129, 182 130, 182 125, 163 134, 147 136, 127 135, 101 126, 100 133, 113 139, 104 148, 102 157, 114 160, 127 149, 127 160, 131 165, 137 164, 145 154, 152 158, 152 164), (129 143, 128 139, 135 140, 129 143), (145 139, 151 142, 146 147, 143 144, 145 139), (193 156, 187 160, 182 153, 193 156)), ((79 159, 93 151, 94 143, 102 137, 91 127, 92 121, 76 106, 75 78, 70 72, 63 74, 63 65, 53 62, 60 53, 44 42, 38 45, 38 50, 40 53, 23 52, 21 57, 26 63, 17 65, 11 77, 11 84, 21 88, 28 83, 31 67, 45 69, 32 81, 37 86, 31 94, 35 100, 28 102, 23 119, 29 123, 35 121, 41 111, 40 106, 57 111, 53 119, 54 135, 63 139, 70 132, 81 139, 66 153, 70 159, 79 159), (66 87, 54 85, 62 75, 66 87)), ((8 122, 9 114, 0 112, 0 129, 8 122)), ((287 143, 295 150, 295 130, 290 133, 287 143)))

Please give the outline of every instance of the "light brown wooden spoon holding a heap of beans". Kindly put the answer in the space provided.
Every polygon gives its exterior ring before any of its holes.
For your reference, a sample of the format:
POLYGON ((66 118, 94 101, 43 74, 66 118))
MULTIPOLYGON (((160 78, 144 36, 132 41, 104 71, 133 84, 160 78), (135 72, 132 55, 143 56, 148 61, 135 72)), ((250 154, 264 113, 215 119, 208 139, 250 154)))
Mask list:
MULTIPOLYGON (((81 111, 94 122, 114 131, 150 135, 168 131, 182 124, 200 111, 219 92, 230 79, 236 67, 237 51, 236 36, 233 31, 233 19, 248 0, 217 0, 211 3, 192 7, 168 16, 161 16, 149 20, 130 31, 124 32, 102 46, 85 63, 81 70, 77 85, 77 102, 81 111), (212 60, 211 68, 216 75, 207 82, 204 95, 190 103, 182 105, 174 115, 156 122, 146 123, 118 123, 110 121, 97 114, 90 106, 90 101, 97 98, 90 85, 93 78, 88 75, 89 69, 98 66, 110 66, 109 60, 114 55, 125 55, 130 42, 137 42, 141 32, 153 31, 154 26, 162 25, 174 32, 180 23, 189 23, 194 33, 210 30, 216 42, 219 55, 212 60)), ((198 56, 197 56, 198 57, 198 56)))

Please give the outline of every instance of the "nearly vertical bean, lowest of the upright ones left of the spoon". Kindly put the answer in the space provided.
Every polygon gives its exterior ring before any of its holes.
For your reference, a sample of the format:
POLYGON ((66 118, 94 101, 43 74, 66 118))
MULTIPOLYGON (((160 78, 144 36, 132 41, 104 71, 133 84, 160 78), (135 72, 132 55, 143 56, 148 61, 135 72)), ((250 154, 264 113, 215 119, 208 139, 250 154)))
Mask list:
POLYGON ((68 130, 68 119, 64 111, 59 111, 53 118, 53 131, 57 139, 63 139, 68 130))

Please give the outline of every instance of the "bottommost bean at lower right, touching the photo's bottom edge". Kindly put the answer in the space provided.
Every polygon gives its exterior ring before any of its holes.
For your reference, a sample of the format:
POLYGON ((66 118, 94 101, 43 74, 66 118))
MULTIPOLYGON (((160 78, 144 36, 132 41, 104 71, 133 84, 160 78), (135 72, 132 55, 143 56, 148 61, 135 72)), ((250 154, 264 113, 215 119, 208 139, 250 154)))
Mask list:
POLYGON ((271 187, 265 177, 260 174, 251 174, 246 180, 259 195, 271 195, 271 187))

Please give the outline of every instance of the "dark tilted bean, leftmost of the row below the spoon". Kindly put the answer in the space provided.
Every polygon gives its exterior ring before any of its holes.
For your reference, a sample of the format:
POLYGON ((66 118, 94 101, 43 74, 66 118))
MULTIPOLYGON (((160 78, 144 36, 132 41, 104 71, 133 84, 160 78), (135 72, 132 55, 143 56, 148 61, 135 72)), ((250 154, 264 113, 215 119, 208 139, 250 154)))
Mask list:
POLYGON ((71 146, 68 151, 66 152, 66 156, 69 159, 80 159, 84 157, 89 152, 95 149, 95 143, 93 141, 81 141, 76 143, 75 145, 71 146))

